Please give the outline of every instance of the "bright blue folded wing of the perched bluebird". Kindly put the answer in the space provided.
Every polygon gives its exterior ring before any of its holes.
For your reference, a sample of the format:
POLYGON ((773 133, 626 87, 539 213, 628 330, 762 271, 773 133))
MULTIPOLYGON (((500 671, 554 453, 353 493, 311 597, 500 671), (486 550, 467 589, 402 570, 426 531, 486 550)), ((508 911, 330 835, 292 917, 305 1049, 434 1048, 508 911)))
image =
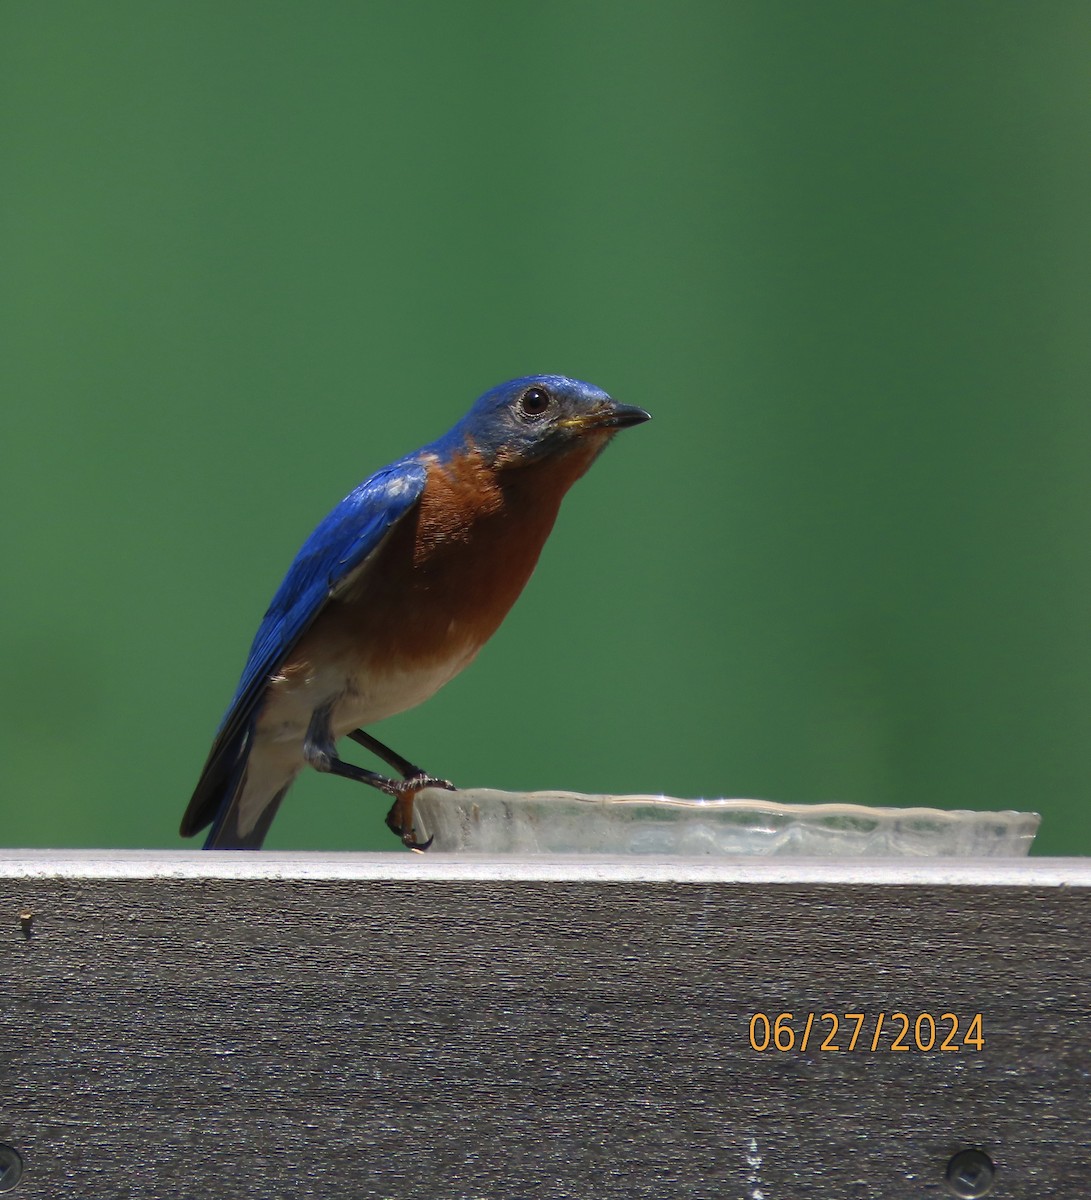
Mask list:
POLYGON ((402 460, 365 480, 304 542, 276 590, 250 648, 242 678, 224 713, 200 780, 182 818, 182 834, 196 833, 220 811, 236 775, 251 720, 265 683, 322 611, 330 593, 382 544, 420 500, 427 469, 402 460))

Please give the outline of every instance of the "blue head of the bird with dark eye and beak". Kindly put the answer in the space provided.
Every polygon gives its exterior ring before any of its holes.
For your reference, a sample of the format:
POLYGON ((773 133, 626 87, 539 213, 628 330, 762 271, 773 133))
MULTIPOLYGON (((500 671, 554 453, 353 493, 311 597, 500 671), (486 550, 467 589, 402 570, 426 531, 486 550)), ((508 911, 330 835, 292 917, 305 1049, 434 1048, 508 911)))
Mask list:
POLYGON ((589 383, 526 376, 486 391, 434 449, 469 446, 490 467, 522 466, 577 448, 601 450, 618 430, 648 419, 589 383))

